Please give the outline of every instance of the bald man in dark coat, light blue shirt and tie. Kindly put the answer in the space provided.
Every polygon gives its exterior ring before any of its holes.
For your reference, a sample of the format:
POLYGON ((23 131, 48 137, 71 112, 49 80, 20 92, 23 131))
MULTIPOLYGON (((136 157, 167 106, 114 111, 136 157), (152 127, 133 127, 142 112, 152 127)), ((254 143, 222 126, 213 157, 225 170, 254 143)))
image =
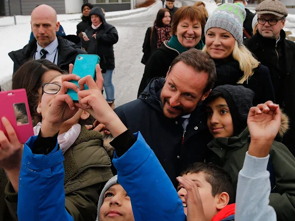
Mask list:
POLYGON ((35 39, 23 49, 8 54, 14 62, 13 72, 31 58, 47 59, 68 70, 68 65, 74 63, 78 54, 86 53, 76 48, 73 42, 56 35, 59 30, 57 12, 46 4, 32 11, 31 26, 35 39))

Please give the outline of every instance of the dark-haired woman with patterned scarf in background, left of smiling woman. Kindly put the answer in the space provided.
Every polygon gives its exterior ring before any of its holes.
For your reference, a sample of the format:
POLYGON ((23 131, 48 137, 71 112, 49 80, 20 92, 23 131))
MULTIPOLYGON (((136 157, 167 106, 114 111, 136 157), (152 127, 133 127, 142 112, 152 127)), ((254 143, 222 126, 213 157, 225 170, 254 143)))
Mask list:
POLYGON ((146 31, 142 52, 144 53, 141 63, 146 64, 153 52, 159 48, 163 42, 171 38, 171 13, 167 8, 158 11, 154 26, 146 31))

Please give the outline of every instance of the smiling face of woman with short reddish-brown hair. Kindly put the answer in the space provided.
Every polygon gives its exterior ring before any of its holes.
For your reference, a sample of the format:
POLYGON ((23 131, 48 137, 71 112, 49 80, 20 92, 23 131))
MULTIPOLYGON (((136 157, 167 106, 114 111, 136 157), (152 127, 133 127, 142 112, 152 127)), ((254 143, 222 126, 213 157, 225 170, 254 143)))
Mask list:
POLYGON ((178 23, 176 35, 183 47, 192 49, 201 40, 202 25, 197 20, 191 21, 189 18, 186 18, 178 23))

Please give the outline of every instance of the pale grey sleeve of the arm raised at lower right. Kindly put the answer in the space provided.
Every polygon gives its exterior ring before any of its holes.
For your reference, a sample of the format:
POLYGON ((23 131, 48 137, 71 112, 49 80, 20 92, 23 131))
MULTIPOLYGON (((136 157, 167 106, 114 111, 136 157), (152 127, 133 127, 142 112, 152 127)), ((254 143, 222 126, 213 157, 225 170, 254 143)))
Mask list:
POLYGON ((235 221, 277 221, 273 207, 269 206, 270 180, 265 158, 246 153, 243 168, 238 173, 235 221))

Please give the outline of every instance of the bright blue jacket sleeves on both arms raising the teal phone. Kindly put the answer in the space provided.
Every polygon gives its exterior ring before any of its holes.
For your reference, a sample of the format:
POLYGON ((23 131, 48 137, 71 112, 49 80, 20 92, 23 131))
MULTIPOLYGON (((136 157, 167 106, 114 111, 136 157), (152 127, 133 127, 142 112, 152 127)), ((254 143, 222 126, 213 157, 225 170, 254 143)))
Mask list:
MULTIPOLYGON (((135 144, 120 158, 115 154, 113 160, 118 181, 131 198, 135 220, 185 221, 182 202, 168 175, 142 135, 138 132, 135 136, 135 144)), ((36 138, 31 137, 24 145, 18 220, 73 221, 64 207, 64 159, 58 143, 50 154, 35 155, 30 147, 36 138)))

